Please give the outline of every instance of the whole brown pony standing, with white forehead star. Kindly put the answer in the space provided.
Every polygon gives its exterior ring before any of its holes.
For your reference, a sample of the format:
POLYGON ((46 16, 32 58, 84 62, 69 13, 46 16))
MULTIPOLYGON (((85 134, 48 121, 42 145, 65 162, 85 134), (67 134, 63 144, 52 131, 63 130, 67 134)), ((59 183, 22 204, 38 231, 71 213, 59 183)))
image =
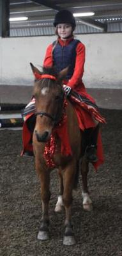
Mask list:
MULTIPOLYGON (((88 162, 85 157, 81 158, 82 134, 72 104, 68 100, 66 106, 68 140, 72 150, 72 154, 68 156, 61 152, 61 138, 55 134, 55 129, 61 124, 61 119, 65 115, 64 100, 65 92, 63 90, 62 81, 66 76, 68 68, 65 68, 59 74, 56 74, 54 68, 43 68, 40 72, 31 64, 34 76, 34 98, 36 106, 36 124, 33 132, 33 149, 35 156, 36 172, 41 183, 42 198, 42 219, 38 239, 49 239, 49 200, 50 200, 50 172, 57 168, 60 179, 60 191, 56 204, 56 212, 61 211, 65 207, 65 234, 63 244, 75 244, 73 229, 71 224, 71 206, 72 191, 77 187, 79 163, 82 173, 82 197, 83 207, 90 210, 92 207, 89 198, 87 175, 88 162), (45 74, 45 76, 43 76, 45 74), (54 134, 55 150, 53 155, 54 166, 49 166, 44 153, 45 146, 54 134)), ((66 132, 66 131, 65 131, 66 132)), ((65 134, 64 134, 65 136, 65 134)), ((52 159, 49 158, 52 161, 52 159)))

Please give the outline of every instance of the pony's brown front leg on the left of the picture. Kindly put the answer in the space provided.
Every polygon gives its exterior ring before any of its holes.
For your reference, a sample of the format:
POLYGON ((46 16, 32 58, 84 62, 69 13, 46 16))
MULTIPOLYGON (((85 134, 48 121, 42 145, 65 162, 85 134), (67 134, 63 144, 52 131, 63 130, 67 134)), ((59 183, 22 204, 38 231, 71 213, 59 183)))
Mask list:
POLYGON ((38 232, 38 239, 44 241, 49 239, 50 173, 46 168, 39 168, 37 172, 40 176, 42 199, 42 218, 40 231, 38 232))

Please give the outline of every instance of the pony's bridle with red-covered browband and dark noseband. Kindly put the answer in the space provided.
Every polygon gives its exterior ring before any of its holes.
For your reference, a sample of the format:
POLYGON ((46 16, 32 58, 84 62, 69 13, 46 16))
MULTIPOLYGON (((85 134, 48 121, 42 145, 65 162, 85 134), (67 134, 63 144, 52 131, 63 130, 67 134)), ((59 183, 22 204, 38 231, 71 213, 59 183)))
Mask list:
MULTIPOLYGON (((52 75, 49 75, 49 74, 38 74, 38 73, 34 72, 34 76, 36 77, 36 79, 48 78, 48 79, 52 79, 52 80, 56 81, 56 77, 52 76, 52 75)), ((65 95, 65 93, 64 93, 64 95, 65 95)), ((64 97, 63 97, 63 101, 64 101, 64 97)), ((63 103, 63 102, 61 101, 61 103, 63 103)), ((61 104, 61 106, 62 106, 62 104, 61 104)), ((59 123, 59 120, 61 120, 61 115, 63 113, 61 111, 58 111, 57 115, 53 116, 53 115, 50 115, 47 112, 36 111, 34 114, 36 116, 39 115, 40 117, 47 116, 52 120, 52 122, 54 122, 54 125, 57 125, 59 123)))

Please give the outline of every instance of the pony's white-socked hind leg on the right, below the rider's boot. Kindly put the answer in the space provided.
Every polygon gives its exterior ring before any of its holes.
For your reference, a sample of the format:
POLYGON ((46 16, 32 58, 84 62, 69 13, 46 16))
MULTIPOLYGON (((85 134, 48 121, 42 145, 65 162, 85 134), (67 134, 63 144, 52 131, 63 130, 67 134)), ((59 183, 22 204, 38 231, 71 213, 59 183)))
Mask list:
POLYGON ((86 157, 82 157, 81 163, 81 175, 82 175, 82 198, 83 198, 83 208, 86 211, 91 211, 93 209, 92 201, 89 196, 88 191, 88 172, 89 172, 89 163, 86 161, 86 157))

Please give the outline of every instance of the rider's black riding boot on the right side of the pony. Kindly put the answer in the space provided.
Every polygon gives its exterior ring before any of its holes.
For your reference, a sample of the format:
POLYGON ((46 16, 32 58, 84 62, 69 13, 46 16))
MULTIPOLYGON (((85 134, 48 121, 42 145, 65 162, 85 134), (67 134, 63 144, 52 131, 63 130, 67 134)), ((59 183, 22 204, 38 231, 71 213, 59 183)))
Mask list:
POLYGON ((97 139, 98 132, 100 129, 100 125, 96 125, 95 128, 86 129, 86 157, 89 162, 96 163, 98 161, 98 157, 96 156, 97 152, 97 139))

